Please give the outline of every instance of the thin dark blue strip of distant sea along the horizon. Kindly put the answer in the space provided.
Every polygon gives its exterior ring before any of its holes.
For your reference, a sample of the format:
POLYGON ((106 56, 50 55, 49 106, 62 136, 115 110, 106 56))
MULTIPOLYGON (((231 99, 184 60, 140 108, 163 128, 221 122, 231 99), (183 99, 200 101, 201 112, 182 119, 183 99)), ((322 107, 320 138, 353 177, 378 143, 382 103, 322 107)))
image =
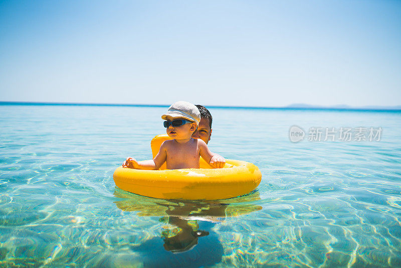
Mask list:
MULTIPOLYGON (((42 102, 42 101, 3 101, 0 100, 0 105, 57 105, 57 106, 131 106, 131 107, 169 107, 169 104, 140 104, 140 103, 88 103, 88 102, 42 102)), ((306 104, 306 106, 224 106, 224 105, 207 105, 209 108, 244 108, 244 109, 278 109, 278 110, 339 110, 339 111, 401 111, 401 106, 377 106, 370 105, 373 107, 369 108, 369 105, 365 107, 325 107, 325 106, 314 106, 306 104)))

